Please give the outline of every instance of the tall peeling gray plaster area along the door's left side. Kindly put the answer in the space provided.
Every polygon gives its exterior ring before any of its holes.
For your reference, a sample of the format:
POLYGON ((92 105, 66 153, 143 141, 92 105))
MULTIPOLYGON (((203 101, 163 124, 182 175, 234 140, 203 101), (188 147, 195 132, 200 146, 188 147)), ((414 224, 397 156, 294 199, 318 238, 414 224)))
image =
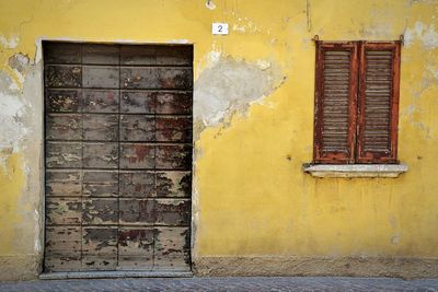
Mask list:
POLYGON ((21 220, 14 223, 12 241, 16 253, 32 255, 32 265, 14 273, 19 279, 22 275, 37 275, 43 255, 43 65, 22 54, 12 56, 8 63, 19 80, 0 71, 0 167, 7 173, 10 155, 21 154, 19 167, 25 179, 16 198, 21 220))

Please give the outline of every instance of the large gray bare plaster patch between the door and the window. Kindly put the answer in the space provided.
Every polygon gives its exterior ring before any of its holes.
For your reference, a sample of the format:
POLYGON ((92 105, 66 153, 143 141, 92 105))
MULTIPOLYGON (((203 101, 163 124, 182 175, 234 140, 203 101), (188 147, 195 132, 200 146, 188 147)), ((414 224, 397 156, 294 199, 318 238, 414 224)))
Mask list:
POLYGON ((252 102, 269 95, 281 80, 279 69, 269 61, 221 58, 195 83, 195 119, 216 126, 234 112, 244 114, 252 102))

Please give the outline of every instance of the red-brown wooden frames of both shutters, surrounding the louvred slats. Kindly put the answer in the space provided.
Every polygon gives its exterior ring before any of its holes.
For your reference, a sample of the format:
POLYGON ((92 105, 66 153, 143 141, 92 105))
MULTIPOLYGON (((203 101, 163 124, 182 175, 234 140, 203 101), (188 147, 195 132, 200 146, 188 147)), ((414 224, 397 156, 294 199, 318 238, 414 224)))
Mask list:
POLYGON ((315 112, 313 164, 397 164, 397 121, 400 98, 400 50, 401 42, 322 42, 315 40, 315 112), (390 151, 370 152, 364 149, 365 128, 365 85, 366 50, 392 50, 392 87, 390 103, 390 151), (348 152, 322 151, 322 120, 324 95, 324 51, 349 50, 349 113, 348 113, 348 152))

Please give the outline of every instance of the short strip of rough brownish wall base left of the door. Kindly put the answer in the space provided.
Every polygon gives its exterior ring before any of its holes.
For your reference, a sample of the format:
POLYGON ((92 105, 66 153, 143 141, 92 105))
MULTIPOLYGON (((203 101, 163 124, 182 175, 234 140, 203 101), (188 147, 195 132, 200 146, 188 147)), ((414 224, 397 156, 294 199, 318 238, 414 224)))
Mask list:
POLYGON ((0 281, 37 279, 41 272, 39 255, 0 256, 0 281))

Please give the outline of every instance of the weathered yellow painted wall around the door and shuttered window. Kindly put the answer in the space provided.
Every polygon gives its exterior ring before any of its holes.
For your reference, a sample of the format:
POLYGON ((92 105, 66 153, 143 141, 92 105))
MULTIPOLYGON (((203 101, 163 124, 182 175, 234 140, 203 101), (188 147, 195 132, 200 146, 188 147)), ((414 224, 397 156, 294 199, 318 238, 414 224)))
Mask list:
MULTIPOLYGON (((32 94, 25 89, 28 74, 41 70, 41 39, 69 39, 194 44, 195 257, 437 258, 438 2, 211 2, 212 10, 204 0, 0 2, 0 70, 19 87, 11 96, 24 104, 27 116, 36 117, 22 122, 27 129, 23 137, 0 154, 4 162, 0 170, 0 257, 41 253, 35 230, 42 232, 43 196, 30 182, 42 179, 41 153, 36 152, 41 151, 42 105, 38 98, 28 101, 32 94), (228 22, 230 34, 212 36, 211 22, 228 22), (316 179, 304 174, 301 165, 312 157, 311 38, 393 40, 401 34, 406 45, 402 48, 399 157, 408 172, 395 179, 316 179), (22 73, 8 66, 9 58, 19 52, 31 60, 22 73), (203 74, 219 72, 220 77, 221 71, 215 70, 227 61, 266 74, 272 81, 264 91, 267 96, 250 96, 251 101, 261 98, 240 107, 230 102, 221 121, 203 121, 206 96, 197 94, 208 86, 201 82, 203 74), (39 140, 31 141, 31 133, 39 140), (37 159, 30 162, 35 153, 37 159), (30 168, 37 170, 30 175, 30 168), (35 203, 27 212, 37 215, 23 223, 21 205, 30 197, 35 203)), ((28 86, 38 89, 38 78, 32 80, 28 86)), ((0 83, 0 98, 10 84, 0 83)))

